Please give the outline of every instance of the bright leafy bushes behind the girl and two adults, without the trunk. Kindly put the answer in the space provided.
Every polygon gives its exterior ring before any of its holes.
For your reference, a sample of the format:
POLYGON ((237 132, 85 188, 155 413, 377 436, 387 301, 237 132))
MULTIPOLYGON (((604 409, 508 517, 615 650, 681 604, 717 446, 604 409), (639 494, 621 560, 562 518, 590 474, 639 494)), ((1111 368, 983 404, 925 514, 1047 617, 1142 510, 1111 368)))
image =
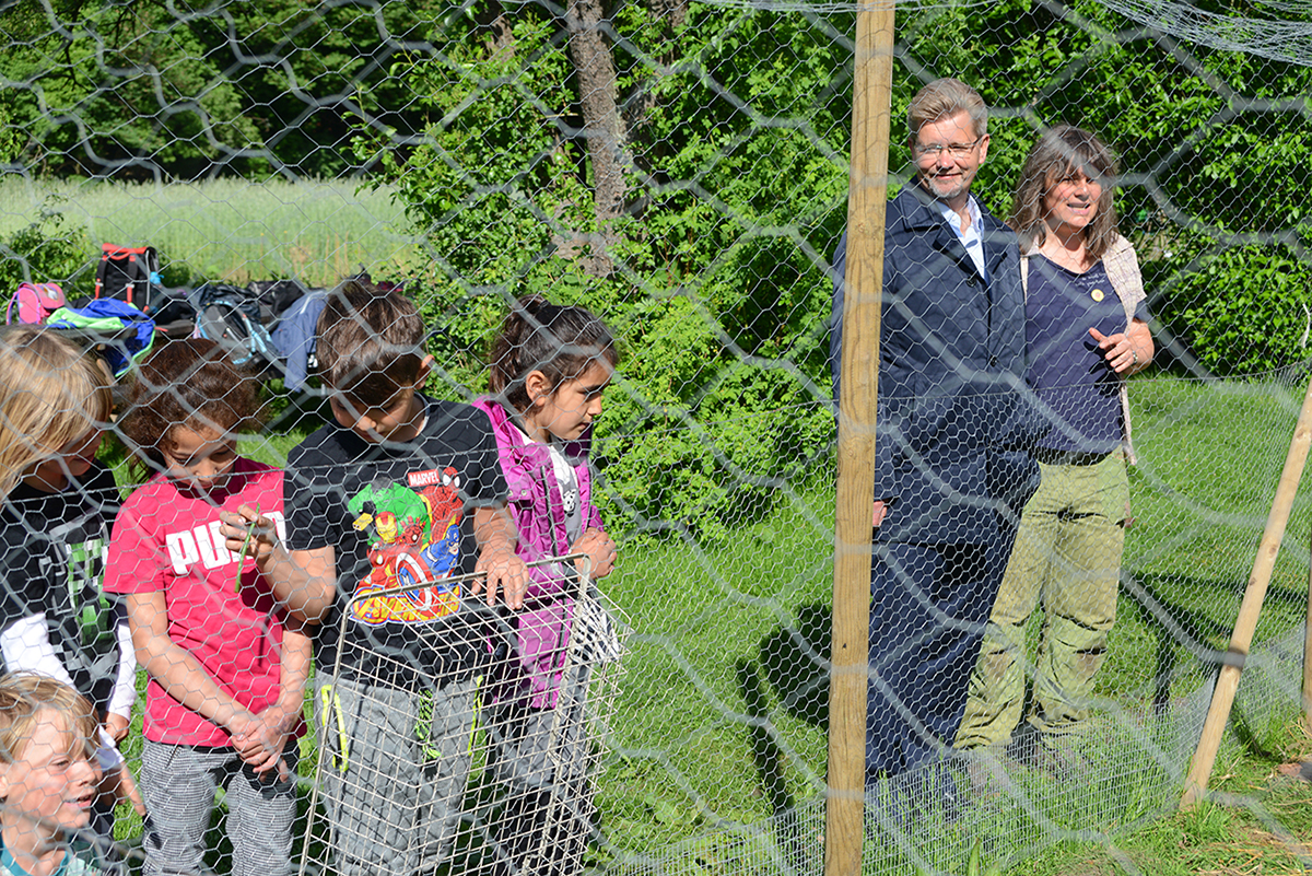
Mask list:
MULTIPOLYGON (((639 523, 723 535, 832 439, 817 404, 824 269, 846 218, 841 34, 853 20, 605 8, 611 88, 630 108, 625 218, 607 226, 590 201, 589 119, 555 7, 513 7, 506 33, 499 16, 510 7, 471 5, 434 58, 395 71, 434 119, 422 144, 396 149, 366 131, 357 148, 430 247, 429 312, 454 338, 454 376, 478 380, 513 295, 598 309, 628 341, 632 389, 615 393, 602 428, 613 493, 639 523), (610 274, 583 257, 607 233, 610 274)), ((1304 220, 1305 182, 1265 168, 1309 134, 1302 98, 1271 101, 1305 93, 1312 76, 1233 52, 1187 58, 1147 34, 1114 39, 1127 24, 1093 3, 900 12, 891 167, 905 178, 900 119, 920 84, 970 71, 991 105, 1022 108, 991 125, 976 190, 997 212, 1040 126, 1090 127, 1123 156, 1122 229, 1161 324, 1214 371, 1302 358, 1307 270, 1287 248, 1271 260, 1270 239, 1304 220), (1244 240, 1263 243, 1229 249, 1244 240)))

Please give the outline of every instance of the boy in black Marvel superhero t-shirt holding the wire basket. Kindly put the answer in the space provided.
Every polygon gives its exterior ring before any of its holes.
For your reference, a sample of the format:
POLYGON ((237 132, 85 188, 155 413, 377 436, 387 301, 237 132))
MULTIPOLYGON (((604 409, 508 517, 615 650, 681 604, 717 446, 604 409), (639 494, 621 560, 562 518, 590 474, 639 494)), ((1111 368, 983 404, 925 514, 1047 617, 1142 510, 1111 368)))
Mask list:
MULTIPOLYGON (((527 584, 487 414, 421 395, 424 341, 395 290, 329 292, 315 350, 333 422, 287 456, 290 561, 274 577, 316 622, 318 775, 335 869, 349 876, 447 858, 487 666, 476 603, 517 608, 527 584), (485 580, 446 581, 475 570, 485 580)), ((230 544, 251 521, 252 509, 230 519, 230 544)))

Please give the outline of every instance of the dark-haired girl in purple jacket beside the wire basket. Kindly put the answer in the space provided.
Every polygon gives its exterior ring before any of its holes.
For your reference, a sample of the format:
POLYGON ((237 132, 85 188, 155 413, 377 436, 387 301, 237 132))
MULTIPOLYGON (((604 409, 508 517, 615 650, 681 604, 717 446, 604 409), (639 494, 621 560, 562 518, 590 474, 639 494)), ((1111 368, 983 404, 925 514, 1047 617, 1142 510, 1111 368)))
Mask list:
MULTIPOLYGON (((617 361, 601 320, 538 295, 516 303, 492 346, 495 395, 474 404, 492 420, 525 563, 586 553, 594 578, 614 565, 615 543, 592 504, 588 451, 617 361)), ((585 719, 575 708, 581 696, 560 690, 577 593, 572 578, 554 565, 530 569, 525 610, 512 618, 514 652, 488 723, 508 788, 502 862, 517 873, 579 872, 592 829, 585 719), (558 707, 564 713, 555 715, 558 707), (552 767, 562 757, 583 761, 569 771, 573 782, 552 767)), ((576 673, 575 685, 585 681, 576 673)))

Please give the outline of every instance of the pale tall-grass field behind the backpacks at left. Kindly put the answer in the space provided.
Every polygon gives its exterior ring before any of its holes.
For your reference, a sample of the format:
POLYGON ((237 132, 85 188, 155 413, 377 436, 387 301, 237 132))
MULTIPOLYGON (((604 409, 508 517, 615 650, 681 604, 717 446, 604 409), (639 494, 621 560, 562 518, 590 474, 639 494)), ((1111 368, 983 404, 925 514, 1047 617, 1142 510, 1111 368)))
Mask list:
POLYGON ((349 180, 155 185, 7 177, 0 203, 0 237, 50 211, 85 231, 92 274, 101 243, 150 244, 165 282, 176 285, 295 277, 328 286, 361 265, 375 277, 394 275, 415 252, 391 193, 357 190, 349 180))

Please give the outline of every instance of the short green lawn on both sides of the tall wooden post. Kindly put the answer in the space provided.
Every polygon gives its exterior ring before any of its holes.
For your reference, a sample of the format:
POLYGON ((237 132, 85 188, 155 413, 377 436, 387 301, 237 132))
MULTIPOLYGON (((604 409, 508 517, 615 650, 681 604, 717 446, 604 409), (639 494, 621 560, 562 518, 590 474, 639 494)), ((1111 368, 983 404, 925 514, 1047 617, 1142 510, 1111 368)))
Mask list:
MULTIPOLYGON (((1071 780, 1012 765, 1014 788, 981 797, 968 820, 930 812, 912 839, 872 829, 865 872, 964 872, 976 846, 984 866, 1010 863, 1013 873, 1136 872, 1124 866, 1135 859, 1145 873, 1249 872, 1224 869, 1239 862, 1227 843, 1258 830, 1277 837, 1273 817, 1283 825, 1279 837, 1312 841, 1312 817, 1294 803, 1312 796, 1307 787, 1260 780, 1307 747, 1292 729, 1296 703, 1242 711, 1215 780, 1242 805, 1193 816, 1172 814, 1178 772, 1158 763, 1187 758, 1193 740, 1170 720, 1151 719, 1155 704, 1169 715, 1204 679, 1195 650, 1228 640, 1300 392, 1157 379, 1135 382, 1132 399, 1140 466, 1131 469, 1136 523, 1124 567, 1136 589, 1122 593, 1098 682, 1114 717, 1089 737, 1085 755, 1092 765, 1134 768, 1092 770, 1072 793, 1071 780)), ((299 438, 253 438, 243 447, 281 463, 299 438)), ((1309 521, 1300 498, 1258 641, 1304 616, 1309 521)), ((819 471, 798 492, 781 490, 769 514, 723 546, 646 538, 621 546, 618 569, 602 586, 634 632, 597 800, 610 846, 596 863, 673 847, 666 872, 777 872, 781 856, 791 855, 819 867, 821 822, 770 818, 808 806, 813 813, 823 792, 832 526, 832 472, 819 471), (773 826, 744 827, 766 824, 773 826)), ((1250 670, 1241 706, 1256 682, 1250 670)), ((1284 683, 1296 687, 1292 678, 1284 683)), ((302 772, 311 770, 307 757, 302 772)), ((1292 860, 1279 837, 1273 866, 1292 860)))

